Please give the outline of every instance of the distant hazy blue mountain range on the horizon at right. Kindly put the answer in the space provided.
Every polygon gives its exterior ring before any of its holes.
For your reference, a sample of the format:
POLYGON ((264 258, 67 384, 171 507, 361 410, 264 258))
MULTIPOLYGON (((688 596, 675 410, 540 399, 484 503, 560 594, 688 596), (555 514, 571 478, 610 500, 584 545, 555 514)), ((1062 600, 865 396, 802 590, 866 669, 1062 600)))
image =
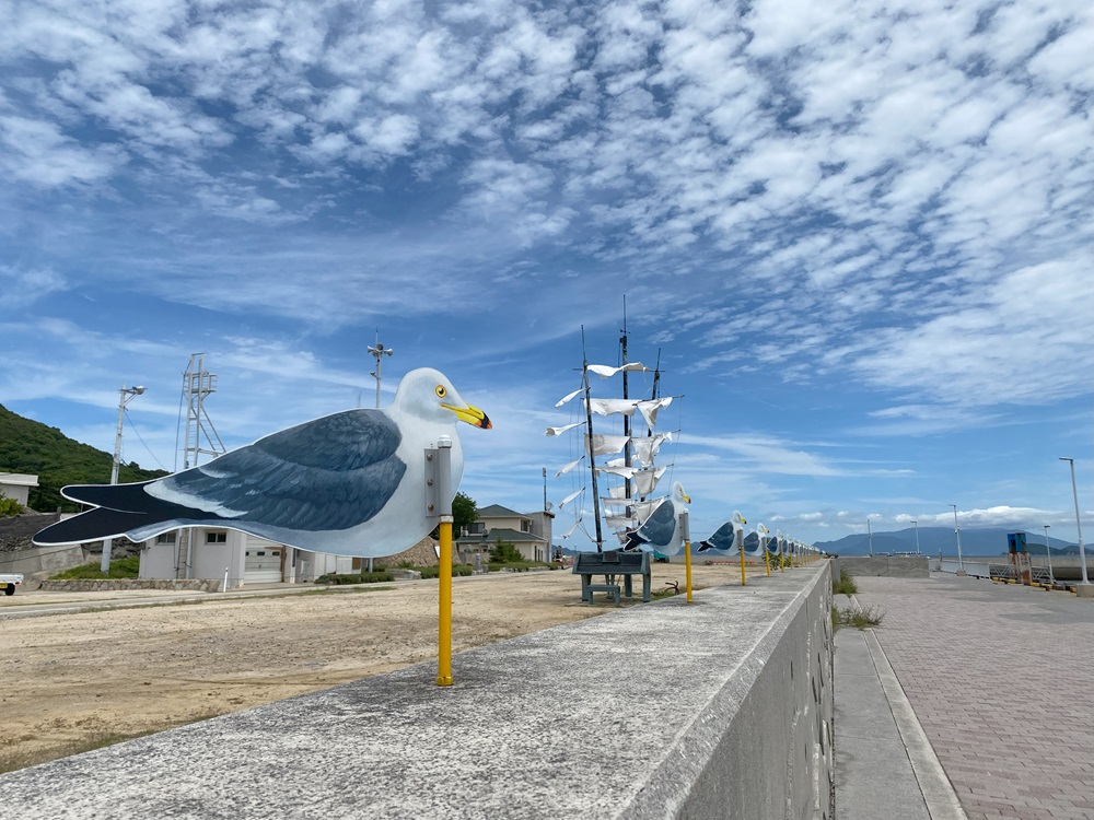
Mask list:
MULTIPOLYGON (((1010 532, 1026 534, 1026 549, 1034 555, 1045 554, 1045 534, 1029 532, 1016 528, 978 527, 962 529, 961 551, 965 555, 999 555, 1006 553, 1006 536, 1010 532)), ((870 539, 865 532, 843 536, 835 541, 817 541, 814 544, 824 552, 839 555, 870 554, 870 539)), ((1048 546, 1054 555, 1078 555, 1079 544, 1068 543, 1059 538, 1049 538, 1048 546)), ((939 550, 945 555, 957 554, 957 539, 952 527, 920 527, 919 549, 928 555, 938 555, 939 550)), ((874 532, 873 552, 886 554, 891 552, 915 552, 916 528, 900 529, 896 532, 874 532)))

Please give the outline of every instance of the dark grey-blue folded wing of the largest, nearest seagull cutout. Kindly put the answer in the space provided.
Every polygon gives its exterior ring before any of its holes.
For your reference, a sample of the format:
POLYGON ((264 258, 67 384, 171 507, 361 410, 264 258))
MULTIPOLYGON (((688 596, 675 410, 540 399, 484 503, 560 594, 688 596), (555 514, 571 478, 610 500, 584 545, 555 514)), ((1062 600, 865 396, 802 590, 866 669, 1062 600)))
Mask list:
POLYGON ((235 522, 346 529, 371 519, 395 494, 406 472, 395 455, 401 438, 386 414, 350 410, 167 477, 155 494, 235 522))

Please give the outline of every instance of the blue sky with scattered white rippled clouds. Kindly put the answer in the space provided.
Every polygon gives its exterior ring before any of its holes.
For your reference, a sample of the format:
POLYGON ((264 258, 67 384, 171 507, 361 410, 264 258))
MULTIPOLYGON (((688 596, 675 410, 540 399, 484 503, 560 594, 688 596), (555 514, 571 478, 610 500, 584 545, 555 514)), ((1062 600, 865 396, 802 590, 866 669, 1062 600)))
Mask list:
POLYGON ((694 537, 1074 539, 1070 456, 1089 541, 1092 42, 1070 0, 12 0, 0 403, 109 452, 141 384, 123 457, 172 469, 190 353, 231 448, 371 406, 379 329, 532 511, 626 294, 694 537))

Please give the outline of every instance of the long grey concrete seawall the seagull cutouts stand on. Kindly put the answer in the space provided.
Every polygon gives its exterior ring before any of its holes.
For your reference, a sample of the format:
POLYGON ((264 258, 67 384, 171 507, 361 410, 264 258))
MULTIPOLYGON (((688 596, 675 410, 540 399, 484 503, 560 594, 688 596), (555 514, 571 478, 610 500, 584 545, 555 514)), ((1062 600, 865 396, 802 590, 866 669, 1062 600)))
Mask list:
MULTIPOLYGON (((828 565, 0 776, 21 818, 831 820, 828 565)), ((458 600, 456 601, 458 620, 458 600)), ((435 614, 422 618, 435 629, 435 614)))

